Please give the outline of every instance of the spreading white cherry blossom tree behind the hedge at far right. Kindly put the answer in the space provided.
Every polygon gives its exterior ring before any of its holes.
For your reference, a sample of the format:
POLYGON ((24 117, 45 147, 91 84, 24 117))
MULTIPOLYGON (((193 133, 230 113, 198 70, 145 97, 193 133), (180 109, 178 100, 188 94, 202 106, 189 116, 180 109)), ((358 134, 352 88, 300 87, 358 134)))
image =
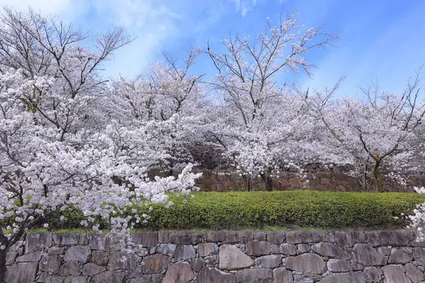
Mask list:
POLYGON ((421 68, 403 93, 374 85, 361 88, 359 97, 332 99, 343 79, 307 98, 324 129, 319 137, 322 161, 353 166, 353 175, 364 187, 371 178, 373 189, 382 192, 385 175, 401 180, 395 169, 407 167, 412 154, 421 149, 425 115, 421 68))

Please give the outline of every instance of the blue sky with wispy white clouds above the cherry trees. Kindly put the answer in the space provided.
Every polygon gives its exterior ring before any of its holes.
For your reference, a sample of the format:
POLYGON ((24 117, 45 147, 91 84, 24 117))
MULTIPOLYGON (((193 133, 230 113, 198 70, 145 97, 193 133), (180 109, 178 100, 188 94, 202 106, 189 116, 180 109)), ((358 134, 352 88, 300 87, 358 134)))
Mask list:
MULTIPOLYGON (((280 13, 294 9, 301 23, 326 23, 326 30, 342 35, 338 47, 307 56, 318 68, 314 79, 297 76, 302 86, 322 88, 346 75, 339 91, 343 96, 376 79, 382 88, 398 92, 425 62, 425 1, 0 0, 0 4, 18 10, 33 6, 94 33, 125 25, 137 38, 106 64, 108 76, 135 76, 162 50, 179 54, 186 45, 205 47, 208 40, 219 46, 228 30, 254 35, 264 28, 267 17, 277 22, 280 13)), ((210 77, 208 57, 202 57, 194 71, 210 77)))

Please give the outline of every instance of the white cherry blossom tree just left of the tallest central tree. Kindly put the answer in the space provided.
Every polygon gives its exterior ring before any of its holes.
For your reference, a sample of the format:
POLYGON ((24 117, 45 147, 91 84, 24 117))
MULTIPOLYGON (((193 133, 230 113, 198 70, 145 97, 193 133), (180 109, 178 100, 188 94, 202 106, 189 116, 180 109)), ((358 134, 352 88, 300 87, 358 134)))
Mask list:
POLYGON ((202 76, 190 74, 200 50, 186 48, 183 57, 164 52, 164 59, 147 67, 136 79, 120 78, 113 83, 113 117, 128 125, 157 125, 167 156, 158 156, 157 166, 173 175, 193 162, 191 149, 203 141, 205 91, 202 76))

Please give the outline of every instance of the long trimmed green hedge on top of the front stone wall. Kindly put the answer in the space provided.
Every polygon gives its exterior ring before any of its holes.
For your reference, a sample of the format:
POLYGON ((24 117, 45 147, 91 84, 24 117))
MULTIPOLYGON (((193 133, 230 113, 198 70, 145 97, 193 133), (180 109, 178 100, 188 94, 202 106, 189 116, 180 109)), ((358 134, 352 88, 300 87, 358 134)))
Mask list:
MULTIPOLYGON (((399 192, 196 192, 194 195, 193 199, 171 197, 174 205, 168 209, 159 204, 155 204, 152 211, 147 207, 135 207, 138 213, 150 216, 147 224, 138 224, 136 228, 398 228, 407 223, 395 216, 412 214, 416 204, 425 202, 425 195, 399 192), (187 199, 186 204, 183 204, 184 199, 187 199)), ((67 219, 53 221, 52 227, 74 228, 83 217, 74 211, 67 219)))

